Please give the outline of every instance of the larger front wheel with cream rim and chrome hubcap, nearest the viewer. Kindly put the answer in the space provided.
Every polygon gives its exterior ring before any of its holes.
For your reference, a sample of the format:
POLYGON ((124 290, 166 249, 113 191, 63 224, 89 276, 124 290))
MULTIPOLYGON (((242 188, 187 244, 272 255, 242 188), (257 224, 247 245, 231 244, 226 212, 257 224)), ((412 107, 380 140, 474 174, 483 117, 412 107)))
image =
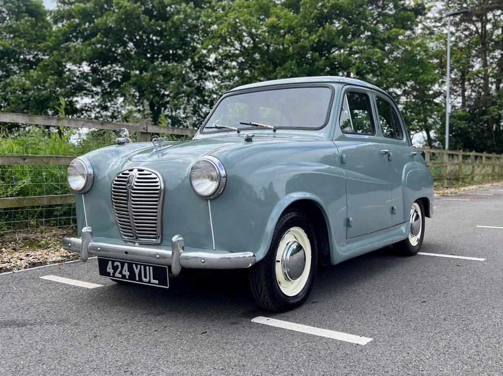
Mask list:
POLYGON ((317 269, 314 230, 297 209, 283 213, 266 257, 249 272, 255 300, 272 312, 295 308, 308 298, 317 269))

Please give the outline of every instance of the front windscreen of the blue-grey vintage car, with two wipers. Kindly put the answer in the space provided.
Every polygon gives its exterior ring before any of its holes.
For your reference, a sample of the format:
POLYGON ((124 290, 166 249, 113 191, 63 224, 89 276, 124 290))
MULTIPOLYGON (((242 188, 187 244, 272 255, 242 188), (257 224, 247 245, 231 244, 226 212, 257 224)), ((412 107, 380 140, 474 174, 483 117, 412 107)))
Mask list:
MULTIPOLYGON (((320 129, 328 120, 332 90, 326 86, 292 87, 234 94, 223 98, 203 131, 232 131, 250 126, 320 129), (251 123, 251 124, 250 124, 251 123)), ((265 129, 265 128, 264 128, 265 129)))

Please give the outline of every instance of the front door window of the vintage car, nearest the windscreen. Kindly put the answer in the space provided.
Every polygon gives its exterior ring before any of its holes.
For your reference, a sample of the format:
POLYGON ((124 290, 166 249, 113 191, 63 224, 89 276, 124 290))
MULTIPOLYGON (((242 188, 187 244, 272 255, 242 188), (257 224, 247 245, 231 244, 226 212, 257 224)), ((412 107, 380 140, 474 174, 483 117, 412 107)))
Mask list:
POLYGON ((370 136, 376 134, 367 94, 347 92, 344 95, 340 126, 344 133, 370 136))

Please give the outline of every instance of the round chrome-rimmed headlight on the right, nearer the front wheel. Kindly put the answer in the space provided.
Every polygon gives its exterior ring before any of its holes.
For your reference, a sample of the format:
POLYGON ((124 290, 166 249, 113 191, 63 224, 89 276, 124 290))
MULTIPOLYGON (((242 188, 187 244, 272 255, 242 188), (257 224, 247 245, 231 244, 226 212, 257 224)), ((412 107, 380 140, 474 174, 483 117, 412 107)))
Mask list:
POLYGON ((225 168, 217 158, 206 156, 194 163, 190 170, 190 183, 201 197, 211 200, 222 193, 227 175, 225 168))

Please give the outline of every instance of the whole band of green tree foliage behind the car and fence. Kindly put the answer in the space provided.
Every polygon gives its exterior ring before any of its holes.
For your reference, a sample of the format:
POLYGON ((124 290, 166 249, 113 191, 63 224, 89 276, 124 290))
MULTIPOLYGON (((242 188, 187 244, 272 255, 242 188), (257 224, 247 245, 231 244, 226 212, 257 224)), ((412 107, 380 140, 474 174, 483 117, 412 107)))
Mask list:
POLYGON ((0 108, 198 126, 223 91, 342 75, 396 98, 441 146, 446 19, 451 145, 503 152, 501 0, 0 0, 0 108))

